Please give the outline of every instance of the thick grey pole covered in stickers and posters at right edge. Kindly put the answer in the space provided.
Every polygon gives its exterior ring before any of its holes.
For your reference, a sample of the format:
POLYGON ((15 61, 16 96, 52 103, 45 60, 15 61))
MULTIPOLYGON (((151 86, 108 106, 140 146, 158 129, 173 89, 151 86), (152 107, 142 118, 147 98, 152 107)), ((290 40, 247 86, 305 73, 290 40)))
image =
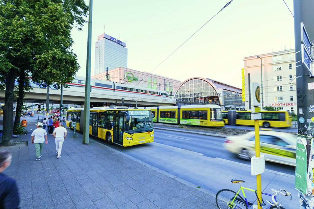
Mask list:
MULTIPOLYGON (((295 71, 297 90, 298 136, 295 166, 295 188, 299 191, 300 208, 313 208, 314 149, 314 77, 311 77, 314 40, 314 1, 294 0, 295 71), (307 57, 306 57, 307 56, 307 57), (304 59, 306 58, 306 59, 304 59)), ((292 20, 291 20, 292 21, 292 20)))

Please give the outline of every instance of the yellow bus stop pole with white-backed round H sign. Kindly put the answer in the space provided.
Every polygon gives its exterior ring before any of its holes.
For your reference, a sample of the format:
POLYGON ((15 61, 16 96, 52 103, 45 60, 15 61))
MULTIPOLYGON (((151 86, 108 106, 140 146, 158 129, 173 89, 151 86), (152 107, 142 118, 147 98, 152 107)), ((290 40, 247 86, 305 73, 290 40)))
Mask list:
POLYGON ((251 158, 251 175, 256 175, 256 189, 257 197, 257 208, 262 209, 262 179, 261 174, 265 171, 265 159, 264 155, 260 154, 260 143, 259 143, 259 119, 262 119, 261 114, 261 94, 260 86, 258 83, 251 83, 251 104, 252 114, 251 119, 254 120, 255 127, 255 156, 251 158))

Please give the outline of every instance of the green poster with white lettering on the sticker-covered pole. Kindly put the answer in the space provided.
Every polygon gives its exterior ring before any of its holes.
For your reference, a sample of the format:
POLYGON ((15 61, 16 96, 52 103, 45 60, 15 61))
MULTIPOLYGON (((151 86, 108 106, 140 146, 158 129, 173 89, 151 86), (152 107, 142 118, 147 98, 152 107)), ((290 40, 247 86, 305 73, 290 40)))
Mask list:
POLYGON ((295 165, 295 189, 306 194, 307 189, 307 157, 306 138, 297 137, 296 165, 295 165))

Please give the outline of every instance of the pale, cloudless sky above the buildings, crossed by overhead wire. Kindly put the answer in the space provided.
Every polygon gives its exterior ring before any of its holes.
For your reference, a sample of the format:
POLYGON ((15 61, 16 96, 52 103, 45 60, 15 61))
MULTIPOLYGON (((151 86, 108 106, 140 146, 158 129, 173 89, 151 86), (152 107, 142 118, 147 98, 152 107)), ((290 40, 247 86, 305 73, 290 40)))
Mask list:
MULTIPOLYGON (((93 0, 91 76, 95 42, 105 32, 126 43, 129 69, 182 82, 209 78, 241 88, 244 57, 294 48, 293 0, 233 0, 220 11, 229 1, 93 0)), ((78 76, 86 75, 87 34, 88 24, 71 33, 78 76)))

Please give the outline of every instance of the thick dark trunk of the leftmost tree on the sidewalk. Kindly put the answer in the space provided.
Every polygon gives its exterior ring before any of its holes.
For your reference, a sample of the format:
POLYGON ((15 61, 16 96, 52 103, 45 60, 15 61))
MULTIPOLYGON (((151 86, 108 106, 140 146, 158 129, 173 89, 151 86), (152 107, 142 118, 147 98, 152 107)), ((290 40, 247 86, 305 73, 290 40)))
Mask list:
POLYGON ((0 146, 13 146, 13 102, 14 102, 14 81, 17 70, 10 69, 6 75, 6 88, 3 107, 3 136, 0 146))

